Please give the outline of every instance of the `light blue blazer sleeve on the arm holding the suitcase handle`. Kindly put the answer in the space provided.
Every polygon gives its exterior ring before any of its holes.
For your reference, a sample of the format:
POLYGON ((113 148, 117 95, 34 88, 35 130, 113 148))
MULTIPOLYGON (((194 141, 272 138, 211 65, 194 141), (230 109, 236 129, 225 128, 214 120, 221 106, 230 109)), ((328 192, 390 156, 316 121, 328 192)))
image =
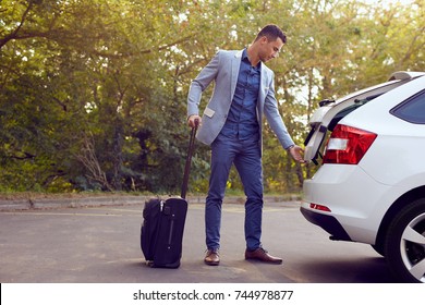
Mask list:
POLYGON ((204 90, 216 80, 220 63, 220 51, 192 81, 187 94, 187 118, 193 114, 199 115, 199 102, 204 90))

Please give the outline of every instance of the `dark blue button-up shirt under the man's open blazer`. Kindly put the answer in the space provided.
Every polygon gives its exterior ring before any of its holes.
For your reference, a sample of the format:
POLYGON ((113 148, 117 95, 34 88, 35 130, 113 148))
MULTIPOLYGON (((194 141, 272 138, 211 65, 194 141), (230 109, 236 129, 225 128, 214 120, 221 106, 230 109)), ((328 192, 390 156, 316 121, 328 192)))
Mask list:
POLYGON ((221 134, 239 139, 259 139, 257 99, 260 82, 260 62, 252 66, 246 49, 243 50, 238 84, 232 105, 221 134))

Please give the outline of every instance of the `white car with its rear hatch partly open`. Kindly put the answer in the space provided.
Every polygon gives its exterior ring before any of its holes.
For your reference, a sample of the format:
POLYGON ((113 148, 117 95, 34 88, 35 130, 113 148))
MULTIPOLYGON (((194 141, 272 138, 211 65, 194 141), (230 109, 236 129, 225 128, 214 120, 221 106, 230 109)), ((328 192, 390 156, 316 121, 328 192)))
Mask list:
POLYGON ((331 240, 372 245, 401 282, 425 283, 425 72, 388 82, 313 114, 302 215, 331 240))

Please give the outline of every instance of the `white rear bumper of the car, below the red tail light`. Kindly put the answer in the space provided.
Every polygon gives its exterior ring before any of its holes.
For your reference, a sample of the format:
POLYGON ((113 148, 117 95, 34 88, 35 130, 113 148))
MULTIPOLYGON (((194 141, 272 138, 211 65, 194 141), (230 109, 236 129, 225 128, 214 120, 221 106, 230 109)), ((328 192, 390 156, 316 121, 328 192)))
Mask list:
POLYGON ((343 241, 374 244, 388 209, 389 185, 359 166, 324 164, 304 181, 303 216, 343 241))

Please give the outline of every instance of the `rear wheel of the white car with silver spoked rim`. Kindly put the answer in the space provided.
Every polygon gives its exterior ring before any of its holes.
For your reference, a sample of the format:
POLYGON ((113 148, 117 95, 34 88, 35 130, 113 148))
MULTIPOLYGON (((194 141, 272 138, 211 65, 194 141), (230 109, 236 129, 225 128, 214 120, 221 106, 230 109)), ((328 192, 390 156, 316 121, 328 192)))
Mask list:
POLYGON ((413 202, 394 217, 384 251, 400 280, 425 283, 425 198, 413 202))

